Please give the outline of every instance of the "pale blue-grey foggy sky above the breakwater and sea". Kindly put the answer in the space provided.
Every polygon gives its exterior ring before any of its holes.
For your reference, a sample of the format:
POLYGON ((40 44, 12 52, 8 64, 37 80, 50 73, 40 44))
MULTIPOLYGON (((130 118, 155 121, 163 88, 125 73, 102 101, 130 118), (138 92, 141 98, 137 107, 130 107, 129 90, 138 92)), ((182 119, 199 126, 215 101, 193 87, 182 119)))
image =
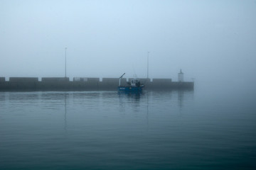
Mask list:
POLYGON ((256 82, 256 1, 0 0, 0 77, 256 82))

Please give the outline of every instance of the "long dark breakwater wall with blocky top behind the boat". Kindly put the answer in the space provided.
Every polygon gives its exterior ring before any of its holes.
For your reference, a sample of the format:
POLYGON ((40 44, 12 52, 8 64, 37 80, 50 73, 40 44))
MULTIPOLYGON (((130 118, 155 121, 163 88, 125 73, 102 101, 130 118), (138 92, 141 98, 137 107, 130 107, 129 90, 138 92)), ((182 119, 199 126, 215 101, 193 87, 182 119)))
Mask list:
MULTIPOLYGON (((126 85, 129 79, 121 79, 121 85, 126 85)), ((171 79, 140 79, 145 90, 193 89, 193 82, 177 82, 171 79)), ((117 90, 118 78, 85 78, 75 77, 0 77, 0 91, 105 91, 117 90)))

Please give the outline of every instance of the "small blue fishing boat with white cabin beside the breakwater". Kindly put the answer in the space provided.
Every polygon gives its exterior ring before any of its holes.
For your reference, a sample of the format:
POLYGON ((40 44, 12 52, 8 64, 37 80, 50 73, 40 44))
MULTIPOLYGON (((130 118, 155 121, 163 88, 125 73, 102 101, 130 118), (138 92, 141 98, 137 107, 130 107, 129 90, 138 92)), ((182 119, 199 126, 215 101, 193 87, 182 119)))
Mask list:
POLYGON ((129 82, 127 82, 127 86, 121 86, 121 79, 124 76, 124 74, 122 74, 122 76, 119 77, 119 91, 142 91, 144 85, 141 84, 139 79, 131 79, 129 82))

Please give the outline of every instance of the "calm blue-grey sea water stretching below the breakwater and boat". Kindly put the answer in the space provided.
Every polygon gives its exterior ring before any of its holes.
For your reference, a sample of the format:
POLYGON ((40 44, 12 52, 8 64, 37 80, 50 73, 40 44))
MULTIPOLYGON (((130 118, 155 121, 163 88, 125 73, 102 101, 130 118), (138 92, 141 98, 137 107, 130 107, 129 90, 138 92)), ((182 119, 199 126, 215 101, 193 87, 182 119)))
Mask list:
POLYGON ((255 169, 249 94, 0 92, 0 169, 255 169))

